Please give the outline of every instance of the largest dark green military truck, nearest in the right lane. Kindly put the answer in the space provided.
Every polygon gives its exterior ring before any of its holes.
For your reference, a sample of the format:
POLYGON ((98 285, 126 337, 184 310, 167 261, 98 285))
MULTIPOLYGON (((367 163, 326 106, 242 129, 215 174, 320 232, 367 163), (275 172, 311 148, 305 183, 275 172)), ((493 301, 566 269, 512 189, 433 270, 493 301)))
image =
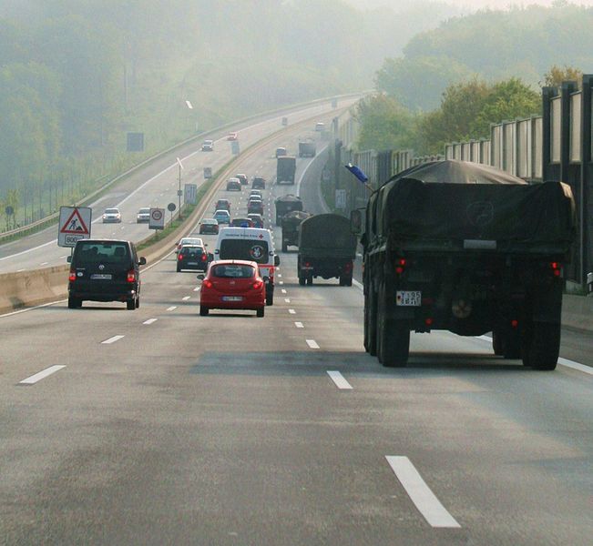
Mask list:
POLYGON ((559 182, 528 185, 460 161, 400 173, 366 207, 365 349, 405 366, 410 331, 492 331, 497 355, 555 369, 574 229, 559 182))

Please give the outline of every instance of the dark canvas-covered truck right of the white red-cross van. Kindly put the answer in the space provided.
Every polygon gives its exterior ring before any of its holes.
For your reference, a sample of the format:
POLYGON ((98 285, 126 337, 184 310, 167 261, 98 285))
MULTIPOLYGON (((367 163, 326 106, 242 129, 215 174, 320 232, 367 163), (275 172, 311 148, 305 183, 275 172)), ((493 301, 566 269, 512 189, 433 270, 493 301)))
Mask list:
POLYGON ((341 287, 353 284, 353 260, 357 240, 350 220, 337 214, 318 214, 299 227, 299 284, 313 284, 313 278, 338 278, 341 287))

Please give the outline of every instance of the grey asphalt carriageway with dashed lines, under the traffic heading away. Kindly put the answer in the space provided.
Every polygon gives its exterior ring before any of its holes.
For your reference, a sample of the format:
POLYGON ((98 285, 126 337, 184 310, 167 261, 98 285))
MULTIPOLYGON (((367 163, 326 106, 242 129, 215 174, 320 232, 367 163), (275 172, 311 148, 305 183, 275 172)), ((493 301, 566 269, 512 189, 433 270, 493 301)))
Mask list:
MULTIPOLYGON (((273 179, 286 138, 237 172, 273 179)), ((322 212, 320 162, 297 166, 300 185, 263 192, 266 220, 297 190, 322 212)), ((246 194, 217 197, 243 213, 246 194)), ((0 318, 0 543, 591 543, 591 369, 536 372, 440 332, 383 369, 360 285, 300 287, 295 252, 276 280, 264 319, 199 317, 173 254, 134 312, 0 318)), ((563 335, 567 363, 593 363, 590 334, 563 335)))

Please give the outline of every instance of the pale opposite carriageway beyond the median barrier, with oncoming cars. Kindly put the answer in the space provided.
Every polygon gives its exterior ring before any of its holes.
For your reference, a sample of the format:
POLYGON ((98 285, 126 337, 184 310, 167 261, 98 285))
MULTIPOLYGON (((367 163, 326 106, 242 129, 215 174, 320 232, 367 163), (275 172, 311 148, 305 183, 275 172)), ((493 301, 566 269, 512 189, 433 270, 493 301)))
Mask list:
MULTIPOLYGON (((329 122, 333 116, 352 106, 355 97, 342 98, 338 108, 332 108, 332 101, 321 102, 315 106, 302 107, 291 111, 287 116, 289 126, 283 134, 311 133, 317 120, 329 122), (296 133, 294 133, 296 131, 296 133)), ((281 117, 274 115, 257 123, 237 126, 240 150, 246 150, 265 136, 281 131, 281 117)), ((329 123, 328 123, 329 125, 329 123)), ((181 160, 181 189, 185 184, 203 184, 203 169, 210 167, 216 172, 232 157, 231 142, 227 133, 220 131, 215 135, 214 151, 200 151, 201 142, 181 147, 174 154, 162 157, 149 167, 128 177, 123 184, 113 187, 105 195, 92 203, 93 224, 91 235, 94 238, 126 238, 142 240, 150 235, 147 224, 137 224, 136 215, 141 207, 167 207, 169 203, 178 204, 179 165, 181 160), (101 216, 107 207, 118 207, 122 213, 121 224, 102 224, 101 216)), ((285 137, 284 137, 285 138, 285 137)), ((282 140, 283 141, 283 140, 282 140)), ((296 146, 296 145, 295 145, 296 146)), ((292 152, 295 151, 293 148, 292 152)), ((270 154, 273 150, 270 150, 270 154)), ((17 240, 0 246, 0 273, 49 268, 64 265, 68 248, 59 248, 56 243, 57 226, 46 229, 34 237, 17 240)))

